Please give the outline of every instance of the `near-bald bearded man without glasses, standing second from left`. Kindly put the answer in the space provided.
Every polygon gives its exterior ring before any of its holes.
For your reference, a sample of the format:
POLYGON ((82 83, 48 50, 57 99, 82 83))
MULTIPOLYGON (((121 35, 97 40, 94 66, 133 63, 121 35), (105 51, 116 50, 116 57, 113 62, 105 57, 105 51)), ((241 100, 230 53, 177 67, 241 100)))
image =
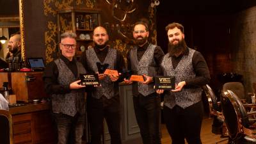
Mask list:
POLYGON ((93 31, 95 47, 87 49, 81 56, 86 70, 90 74, 99 74, 100 85, 88 93, 87 111, 92 134, 92 144, 101 144, 103 118, 108 124, 111 144, 121 143, 120 134, 120 101, 118 88, 118 72, 124 67, 121 52, 111 49, 108 33, 99 26, 93 31), (118 72, 116 72, 116 70, 118 72))

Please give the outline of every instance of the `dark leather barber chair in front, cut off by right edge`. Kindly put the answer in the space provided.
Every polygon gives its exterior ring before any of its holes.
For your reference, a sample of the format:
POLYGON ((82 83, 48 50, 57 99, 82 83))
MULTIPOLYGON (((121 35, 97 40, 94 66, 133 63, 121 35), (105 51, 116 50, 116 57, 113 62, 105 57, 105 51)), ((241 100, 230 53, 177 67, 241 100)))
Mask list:
POLYGON ((221 94, 221 108, 228 129, 229 143, 256 143, 255 119, 256 111, 247 112, 241 100, 231 90, 221 94))

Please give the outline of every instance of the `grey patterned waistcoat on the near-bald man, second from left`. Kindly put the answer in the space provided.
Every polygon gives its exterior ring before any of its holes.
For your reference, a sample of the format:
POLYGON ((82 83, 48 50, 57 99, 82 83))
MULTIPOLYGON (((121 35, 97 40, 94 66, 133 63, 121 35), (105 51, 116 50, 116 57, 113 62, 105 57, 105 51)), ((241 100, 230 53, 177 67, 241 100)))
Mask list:
MULTIPOLYGON (((93 72, 98 72, 98 68, 96 63, 100 62, 99 58, 97 57, 97 54, 95 53, 94 49, 88 49, 86 50, 86 59, 88 61, 88 67, 93 70, 93 72)), ((104 60, 103 63, 108 63, 110 69, 114 69, 115 67, 115 61, 116 61, 116 49, 108 49, 108 54, 104 60)), ((114 90, 114 83, 111 81, 109 77, 106 77, 105 79, 100 80, 101 86, 95 88, 96 90, 92 92, 92 97, 95 99, 100 99, 102 95, 107 97, 108 99, 111 99, 115 96, 115 90, 114 90)))

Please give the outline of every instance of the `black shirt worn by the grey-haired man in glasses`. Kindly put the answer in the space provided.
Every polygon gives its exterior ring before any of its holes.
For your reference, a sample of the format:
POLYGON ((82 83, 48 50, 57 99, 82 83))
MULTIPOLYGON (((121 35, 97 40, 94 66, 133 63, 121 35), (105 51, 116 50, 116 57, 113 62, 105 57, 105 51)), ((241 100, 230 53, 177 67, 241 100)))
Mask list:
MULTIPOLYGON (((74 58, 72 61, 69 61, 67 58, 64 56, 60 56, 61 60, 64 61, 64 63, 67 65, 67 67, 72 71, 75 77, 77 77, 77 66, 76 66, 76 60, 74 58)), ((59 76, 59 70, 54 63, 54 61, 51 61, 47 65, 47 67, 44 70, 44 83, 45 83, 45 92, 48 94, 65 94, 70 92, 69 85, 68 86, 63 86, 58 83, 58 76, 59 76)), ((79 77, 77 77, 77 80, 79 77)))

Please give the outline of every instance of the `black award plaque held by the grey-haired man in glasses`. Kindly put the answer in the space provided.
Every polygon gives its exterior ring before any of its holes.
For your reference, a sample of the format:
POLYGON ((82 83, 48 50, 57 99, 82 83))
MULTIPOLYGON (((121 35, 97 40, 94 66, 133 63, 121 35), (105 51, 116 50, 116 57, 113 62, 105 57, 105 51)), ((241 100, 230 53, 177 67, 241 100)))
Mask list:
POLYGON ((81 85, 93 86, 99 85, 99 76, 98 74, 80 74, 81 85))

